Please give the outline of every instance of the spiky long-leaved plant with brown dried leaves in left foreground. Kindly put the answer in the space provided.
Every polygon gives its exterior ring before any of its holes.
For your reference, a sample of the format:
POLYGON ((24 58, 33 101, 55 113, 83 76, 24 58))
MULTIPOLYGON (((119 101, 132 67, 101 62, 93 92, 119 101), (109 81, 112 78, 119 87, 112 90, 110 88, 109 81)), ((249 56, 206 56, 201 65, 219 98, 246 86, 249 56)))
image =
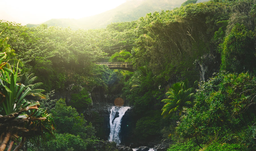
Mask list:
POLYGON ((12 140, 11 148, 13 140, 22 137, 16 151, 23 146, 26 137, 44 138, 46 133, 53 136, 54 127, 51 114, 38 108, 38 101, 26 101, 31 89, 17 83, 19 62, 11 68, 2 62, 6 57, 6 53, 0 53, 0 151, 5 150, 9 140, 12 140))

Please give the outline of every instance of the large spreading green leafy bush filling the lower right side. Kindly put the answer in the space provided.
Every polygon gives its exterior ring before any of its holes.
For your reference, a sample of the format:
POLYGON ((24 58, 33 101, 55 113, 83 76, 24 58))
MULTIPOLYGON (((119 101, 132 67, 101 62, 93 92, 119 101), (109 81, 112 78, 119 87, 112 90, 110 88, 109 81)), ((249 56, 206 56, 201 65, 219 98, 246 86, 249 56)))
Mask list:
MULTIPOLYGON (((248 73, 223 74, 199 84, 195 105, 187 109, 177 126, 181 138, 198 138, 204 143, 235 142, 234 132, 248 131, 255 119, 256 78, 248 73)), ((253 130, 252 130, 253 132, 253 130)), ((244 135, 247 136, 247 135, 244 135)), ((243 139, 249 150, 255 150, 254 134, 243 139)))

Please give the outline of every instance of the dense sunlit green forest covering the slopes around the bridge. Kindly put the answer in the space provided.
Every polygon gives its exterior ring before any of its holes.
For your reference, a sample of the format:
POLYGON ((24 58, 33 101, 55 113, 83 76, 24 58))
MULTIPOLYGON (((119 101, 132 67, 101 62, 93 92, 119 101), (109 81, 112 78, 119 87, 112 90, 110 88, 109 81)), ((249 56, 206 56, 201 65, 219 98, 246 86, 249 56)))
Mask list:
MULTIPOLYGON (((253 0, 188 0, 98 30, 1 21, 0 51, 23 62, 19 82, 32 89, 26 98, 54 117, 56 139, 47 137, 45 150, 95 149, 94 135, 104 134, 92 124, 104 119, 92 112, 91 124, 80 113, 99 103, 99 91, 133 106, 138 144, 164 138, 174 143, 168 151, 255 150, 255 17, 253 0), (135 71, 93 62, 132 62, 135 71)), ((27 144, 33 150, 34 142, 27 144)))

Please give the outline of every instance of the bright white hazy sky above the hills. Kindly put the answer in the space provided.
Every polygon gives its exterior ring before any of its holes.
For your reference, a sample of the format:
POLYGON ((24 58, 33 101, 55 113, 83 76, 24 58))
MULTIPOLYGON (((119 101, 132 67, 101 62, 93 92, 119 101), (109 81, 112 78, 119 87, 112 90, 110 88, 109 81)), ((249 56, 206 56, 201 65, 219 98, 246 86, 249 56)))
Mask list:
POLYGON ((108 11, 126 0, 0 0, 0 20, 39 24, 51 18, 83 18, 108 11))

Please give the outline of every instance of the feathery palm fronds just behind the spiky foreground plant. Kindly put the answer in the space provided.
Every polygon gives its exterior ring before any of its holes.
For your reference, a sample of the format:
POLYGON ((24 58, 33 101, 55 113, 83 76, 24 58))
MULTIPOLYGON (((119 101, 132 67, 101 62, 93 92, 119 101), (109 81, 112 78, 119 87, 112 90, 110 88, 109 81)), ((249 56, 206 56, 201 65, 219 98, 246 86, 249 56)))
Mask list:
POLYGON ((37 89, 39 86, 43 85, 43 83, 42 82, 35 83, 37 77, 34 76, 34 73, 29 74, 28 69, 23 68, 22 70, 20 70, 20 74, 21 75, 19 75, 19 82, 26 85, 24 90, 28 89, 28 87, 31 89, 31 91, 30 91, 30 93, 28 93, 28 95, 32 95, 34 97, 37 96, 40 98, 45 98, 45 95, 42 94, 42 92, 44 92, 45 90, 37 89))

